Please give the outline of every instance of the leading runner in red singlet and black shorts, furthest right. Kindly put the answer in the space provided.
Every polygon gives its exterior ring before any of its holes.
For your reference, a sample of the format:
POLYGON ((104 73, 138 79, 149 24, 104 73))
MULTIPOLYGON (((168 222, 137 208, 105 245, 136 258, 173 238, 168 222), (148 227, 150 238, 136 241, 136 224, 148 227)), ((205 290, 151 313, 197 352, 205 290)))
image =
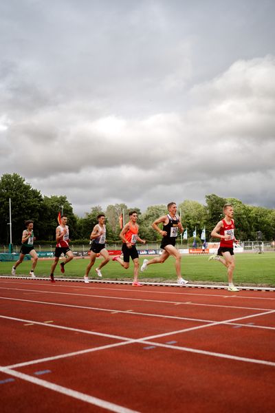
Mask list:
POLYGON ((233 284, 233 271, 235 268, 235 257, 233 242, 239 242, 234 236, 235 223, 233 220, 234 209, 232 205, 225 204, 223 207, 225 217, 214 227, 211 237, 220 238, 217 255, 211 255, 209 260, 217 260, 228 270, 228 291, 239 291, 233 284))

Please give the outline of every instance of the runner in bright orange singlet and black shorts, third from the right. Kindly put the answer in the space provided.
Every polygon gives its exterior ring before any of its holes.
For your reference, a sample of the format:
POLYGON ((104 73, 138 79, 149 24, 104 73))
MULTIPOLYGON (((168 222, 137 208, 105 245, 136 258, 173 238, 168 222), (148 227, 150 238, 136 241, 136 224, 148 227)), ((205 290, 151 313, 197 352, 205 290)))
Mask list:
POLYGON ((129 212, 129 222, 127 222, 126 225, 124 225, 124 228, 122 229, 120 233, 120 238, 122 239, 122 253, 123 253, 123 260, 117 256, 113 257, 113 261, 117 261, 120 263, 120 265, 125 268, 129 268, 129 262, 130 262, 130 257, 133 260, 133 286, 135 287, 141 287, 142 284, 137 282, 137 277, 138 277, 138 268, 140 266, 139 260, 138 260, 138 253, 137 253, 137 248, 135 248, 135 243, 137 241, 142 242, 142 244, 145 244, 146 240, 142 240, 138 236, 138 229, 139 226, 137 224, 137 212, 136 211, 131 211, 129 212))

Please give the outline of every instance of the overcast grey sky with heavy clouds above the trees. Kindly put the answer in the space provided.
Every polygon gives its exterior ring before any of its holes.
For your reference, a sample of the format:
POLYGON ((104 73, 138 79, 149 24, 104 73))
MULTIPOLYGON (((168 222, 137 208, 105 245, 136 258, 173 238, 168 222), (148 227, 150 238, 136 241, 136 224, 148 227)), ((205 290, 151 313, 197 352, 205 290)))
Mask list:
POLYGON ((274 0, 4 0, 0 176, 74 213, 275 208, 274 0))

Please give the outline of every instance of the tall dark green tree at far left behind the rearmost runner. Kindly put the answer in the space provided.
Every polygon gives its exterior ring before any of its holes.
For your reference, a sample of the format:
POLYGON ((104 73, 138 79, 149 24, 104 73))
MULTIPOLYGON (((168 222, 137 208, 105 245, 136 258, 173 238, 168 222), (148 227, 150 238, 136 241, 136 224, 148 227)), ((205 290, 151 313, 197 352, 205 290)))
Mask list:
POLYGON ((0 240, 10 242, 9 199, 12 204, 12 242, 21 243, 25 220, 34 220, 35 234, 39 235, 39 222, 43 216, 43 198, 18 173, 5 173, 0 180, 0 240))

